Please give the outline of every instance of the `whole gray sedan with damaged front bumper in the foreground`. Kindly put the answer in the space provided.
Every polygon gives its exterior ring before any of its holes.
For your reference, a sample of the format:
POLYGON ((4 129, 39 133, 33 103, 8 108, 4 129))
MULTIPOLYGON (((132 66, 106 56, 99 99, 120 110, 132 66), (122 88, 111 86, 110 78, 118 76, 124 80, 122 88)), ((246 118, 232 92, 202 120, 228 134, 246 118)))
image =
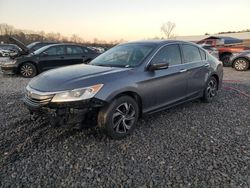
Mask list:
POLYGON ((121 139, 133 132, 142 114, 197 98, 211 102, 222 78, 222 63, 198 45, 132 42, 104 52, 89 65, 37 76, 26 87, 24 103, 53 125, 99 124, 111 138, 121 139))

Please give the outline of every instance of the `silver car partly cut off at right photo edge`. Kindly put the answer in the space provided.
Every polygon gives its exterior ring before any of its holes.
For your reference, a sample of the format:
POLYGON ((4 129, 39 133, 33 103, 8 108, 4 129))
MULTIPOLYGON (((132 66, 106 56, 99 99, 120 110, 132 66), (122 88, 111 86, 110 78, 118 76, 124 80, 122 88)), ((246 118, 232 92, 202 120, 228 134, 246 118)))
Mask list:
POLYGON ((250 68, 250 50, 235 54, 231 58, 232 67, 237 71, 245 71, 250 68))

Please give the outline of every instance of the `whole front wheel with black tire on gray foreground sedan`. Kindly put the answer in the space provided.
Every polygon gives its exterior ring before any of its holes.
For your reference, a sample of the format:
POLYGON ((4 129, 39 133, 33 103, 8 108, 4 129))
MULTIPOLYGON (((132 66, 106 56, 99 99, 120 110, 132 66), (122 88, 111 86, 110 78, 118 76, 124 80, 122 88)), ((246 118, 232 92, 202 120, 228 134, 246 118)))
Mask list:
POLYGON ((133 132, 138 117, 137 102, 129 96, 121 96, 100 110, 98 124, 111 138, 122 139, 133 132))

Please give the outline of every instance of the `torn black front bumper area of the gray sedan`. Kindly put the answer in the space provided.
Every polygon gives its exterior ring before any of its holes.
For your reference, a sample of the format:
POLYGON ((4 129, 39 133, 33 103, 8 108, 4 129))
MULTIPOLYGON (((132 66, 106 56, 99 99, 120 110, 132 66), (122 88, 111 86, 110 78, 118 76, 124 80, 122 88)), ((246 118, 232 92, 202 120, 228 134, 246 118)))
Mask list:
POLYGON ((54 126, 96 125, 98 110, 105 105, 104 101, 95 98, 65 103, 52 103, 51 99, 52 97, 35 99, 26 95, 23 102, 29 109, 32 119, 45 117, 54 126))

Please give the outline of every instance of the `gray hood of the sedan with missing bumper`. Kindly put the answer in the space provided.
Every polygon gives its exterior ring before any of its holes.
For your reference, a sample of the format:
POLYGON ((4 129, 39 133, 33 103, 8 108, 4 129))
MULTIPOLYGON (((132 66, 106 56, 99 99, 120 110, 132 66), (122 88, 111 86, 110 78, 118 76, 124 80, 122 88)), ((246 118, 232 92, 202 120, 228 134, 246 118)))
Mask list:
POLYGON ((29 82, 29 87, 41 92, 58 92, 88 87, 105 82, 107 75, 120 73, 127 68, 72 65, 46 71, 29 82))

